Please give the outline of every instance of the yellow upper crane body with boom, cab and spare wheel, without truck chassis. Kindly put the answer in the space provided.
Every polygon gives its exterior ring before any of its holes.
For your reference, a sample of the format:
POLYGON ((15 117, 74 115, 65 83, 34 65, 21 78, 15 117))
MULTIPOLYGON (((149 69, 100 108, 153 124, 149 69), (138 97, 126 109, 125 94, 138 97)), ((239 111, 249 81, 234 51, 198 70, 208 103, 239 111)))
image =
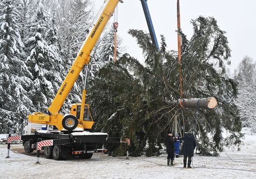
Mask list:
POLYGON ((34 112, 32 115, 28 116, 28 121, 31 123, 54 125, 58 130, 68 130, 72 131, 74 129, 78 131, 83 131, 84 129, 91 129, 94 121, 92 120, 89 105, 85 104, 86 99, 86 80, 88 73, 88 64, 90 61, 90 53, 93 50, 97 40, 108 23, 108 20, 113 15, 115 7, 122 0, 109 0, 105 6, 100 18, 95 24, 94 28, 89 33, 87 39, 85 40, 81 50, 79 51, 71 69, 69 70, 67 77, 61 84, 61 87, 56 94, 51 106, 48 108, 52 115, 43 114, 40 112, 34 112), (64 101, 67 98, 71 88, 74 85, 77 77, 79 76, 81 70, 86 65, 86 77, 84 88, 82 92, 82 102, 72 104, 70 114, 61 115, 59 112, 64 101))

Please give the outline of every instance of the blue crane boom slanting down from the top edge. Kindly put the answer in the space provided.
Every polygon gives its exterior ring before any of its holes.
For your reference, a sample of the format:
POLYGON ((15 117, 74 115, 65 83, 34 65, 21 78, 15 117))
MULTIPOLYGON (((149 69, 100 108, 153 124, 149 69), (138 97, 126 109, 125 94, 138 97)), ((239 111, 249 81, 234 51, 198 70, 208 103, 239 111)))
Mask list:
POLYGON ((148 9, 147 0, 141 0, 141 5, 142 5, 142 8, 143 8, 146 20, 147 20, 148 30, 149 30, 152 42, 153 42, 153 44, 155 44, 157 49, 159 49, 159 45, 158 45, 157 38, 155 35, 155 29, 154 29, 153 22, 152 22, 152 19, 151 19, 150 13, 149 13, 149 9, 148 9))

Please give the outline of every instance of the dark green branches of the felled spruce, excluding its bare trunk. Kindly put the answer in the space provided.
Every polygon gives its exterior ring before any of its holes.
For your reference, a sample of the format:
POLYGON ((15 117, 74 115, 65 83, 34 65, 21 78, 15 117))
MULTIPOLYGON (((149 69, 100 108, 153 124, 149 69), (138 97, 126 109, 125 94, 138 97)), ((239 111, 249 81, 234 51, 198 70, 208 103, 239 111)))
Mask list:
POLYGON ((164 37, 161 49, 152 44, 149 34, 130 30, 143 51, 145 65, 128 54, 117 64, 109 64, 97 74, 91 93, 94 99, 97 126, 110 134, 130 138, 130 152, 159 154, 168 130, 178 115, 182 134, 195 130, 198 152, 217 153, 222 144, 239 146, 241 122, 232 100, 236 96, 236 82, 225 74, 230 49, 225 32, 214 18, 199 17, 192 22, 194 35, 190 40, 182 33, 182 82, 184 98, 214 96, 216 109, 181 109, 168 105, 166 100, 180 99, 179 66, 175 51, 167 51, 164 37), (198 113, 198 114, 197 114, 198 113), (104 128, 104 126, 106 126, 104 128), (224 140, 222 130, 230 135, 224 140), (146 150, 144 150, 146 148, 146 150))

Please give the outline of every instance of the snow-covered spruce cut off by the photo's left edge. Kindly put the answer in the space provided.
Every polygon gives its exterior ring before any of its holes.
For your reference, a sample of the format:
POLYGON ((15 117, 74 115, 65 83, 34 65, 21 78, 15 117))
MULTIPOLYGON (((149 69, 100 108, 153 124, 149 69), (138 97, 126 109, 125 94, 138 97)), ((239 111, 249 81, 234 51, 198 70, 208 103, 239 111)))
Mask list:
POLYGON ((16 131, 33 106, 24 89, 31 84, 31 74, 22 60, 17 3, 0 1, 0 133, 16 131))

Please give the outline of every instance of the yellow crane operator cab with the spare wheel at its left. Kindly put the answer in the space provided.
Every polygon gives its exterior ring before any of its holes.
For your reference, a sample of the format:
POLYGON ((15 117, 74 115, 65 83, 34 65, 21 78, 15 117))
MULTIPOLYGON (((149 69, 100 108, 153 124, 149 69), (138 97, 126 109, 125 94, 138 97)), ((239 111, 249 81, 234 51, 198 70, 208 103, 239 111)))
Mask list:
MULTIPOLYGON (((91 129, 93 127, 94 121, 89 110, 89 104, 84 106, 83 119, 80 119, 81 116, 81 103, 72 104, 70 115, 66 115, 63 118, 62 125, 67 130, 77 130, 79 131, 78 123, 84 129, 91 129), (64 120, 65 119, 65 120, 64 120), (77 128, 76 128, 77 127, 77 128), (76 128, 76 129, 75 129, 76 128)), ((84 130, 81 128, 81 130, 84 130)))

